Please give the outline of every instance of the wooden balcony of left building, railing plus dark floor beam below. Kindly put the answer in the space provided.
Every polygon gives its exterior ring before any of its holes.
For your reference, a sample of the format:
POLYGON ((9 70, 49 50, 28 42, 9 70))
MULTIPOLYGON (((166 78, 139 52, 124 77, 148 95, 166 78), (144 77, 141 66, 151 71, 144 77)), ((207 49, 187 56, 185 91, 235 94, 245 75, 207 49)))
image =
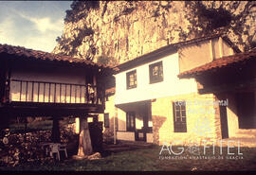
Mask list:
POLYGON ((2 110, 16 114, 87 114, 104 110, 104 91, 92 84, 8 79, 5 96, 2 110))

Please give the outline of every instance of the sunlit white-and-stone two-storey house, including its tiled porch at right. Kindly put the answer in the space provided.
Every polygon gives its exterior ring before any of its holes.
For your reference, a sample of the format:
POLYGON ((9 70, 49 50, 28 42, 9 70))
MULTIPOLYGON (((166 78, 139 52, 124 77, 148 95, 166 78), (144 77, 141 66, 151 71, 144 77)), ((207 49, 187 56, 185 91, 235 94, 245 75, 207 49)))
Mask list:
POLYGON ((107 91, 105 131, 118 140, 156 144, 251 136, 255 55, 240 52, 217 34, 119 64, 116 87, 107 91))

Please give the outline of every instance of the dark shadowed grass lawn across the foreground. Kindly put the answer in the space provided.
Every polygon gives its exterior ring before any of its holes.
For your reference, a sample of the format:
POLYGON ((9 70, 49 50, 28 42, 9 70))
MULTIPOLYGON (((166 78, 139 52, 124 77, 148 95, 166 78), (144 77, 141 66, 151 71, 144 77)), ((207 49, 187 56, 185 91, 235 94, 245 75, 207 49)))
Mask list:
MULTIPOLYGON (((121 151, 117 153, 111 153, 99 160, 64 160, 63 162, 48 162, 44 165, 31 163, 23 164, 14 167, 2 167, 2 170, 71 170, 71 171, 86 171, 86 170, 137 170, 137 171, 152 171, 152 170, 168 170, 168 171, 191 171, 193 170, 256 170, 256 148, 241 148, 240 152, 243 155, 237 156, 237 149, 230 149, 233 152, 233 156, 227 156, 227 148, 223 148, 223 154, 220 156, 220 148, 215 147, 212 154, 212 148, 206 149, 206 157, 198 158, 197 155, 187 151, 188 148, 184 148, 184 152, 179 155, 183 159, 173 157, 174 154, 169 157, 167 150, 163 151, 161 157, 159 152, 162 149, 160 146, 155 146, 152 149, 135 149, 121 151), (192 157, 193 156, 193 157, 192 157), (215 156, 215 159, 212 158, 215 156), (172 158, 173 157, 173 158, 172 158), (187 157, 187 159, 185 159, 187 157), (223 159, 221 159, 221 157, 223 159), (197 159, 196 159, 197 158, 197 159), (220 159, 219 159, 220 158, 220 159), (230 159, 232 158, 232 159, 230 159), (242 159, 243 158, 243 159, 242 159)), ((203 148, 200 147, 200 155, 203 154, 203 148)), ((174 152, 180 152, 179 147, 174 147, 174 152)))

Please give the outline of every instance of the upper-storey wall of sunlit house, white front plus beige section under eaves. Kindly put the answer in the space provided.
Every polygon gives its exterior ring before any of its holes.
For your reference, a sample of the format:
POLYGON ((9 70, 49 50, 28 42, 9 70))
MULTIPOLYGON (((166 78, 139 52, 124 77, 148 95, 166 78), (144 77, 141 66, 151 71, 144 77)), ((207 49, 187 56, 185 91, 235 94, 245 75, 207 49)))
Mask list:
POLYGON ((179 49, 179 53, 120 72, 116 75, 115 104, 197 92, 194 79, 178 79, 177 75, 233 53, 233 49, 222 38, 215 38, 185 45, 179 49), (164 80, 150 84, 149 65, 158 61, 163 62, 164 80), (137 88, 127 90, 126 73, 133 70, 137 70, 137 88))

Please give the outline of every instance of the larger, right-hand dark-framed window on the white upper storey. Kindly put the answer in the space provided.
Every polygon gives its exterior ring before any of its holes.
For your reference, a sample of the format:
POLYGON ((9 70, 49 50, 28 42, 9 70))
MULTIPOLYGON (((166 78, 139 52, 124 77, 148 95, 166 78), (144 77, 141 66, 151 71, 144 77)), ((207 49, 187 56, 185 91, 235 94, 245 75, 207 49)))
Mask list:
POLYGON ((163 63, 162 61, 149 65, 150 83, 163 81, 163 63))

